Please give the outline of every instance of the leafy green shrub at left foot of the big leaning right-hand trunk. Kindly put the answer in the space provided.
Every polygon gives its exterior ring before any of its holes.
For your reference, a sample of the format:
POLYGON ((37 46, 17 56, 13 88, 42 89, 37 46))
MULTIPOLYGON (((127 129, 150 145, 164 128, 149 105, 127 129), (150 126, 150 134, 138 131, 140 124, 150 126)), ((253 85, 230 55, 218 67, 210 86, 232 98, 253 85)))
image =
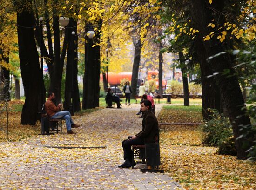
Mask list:
POLYGON ((236 146, 233 131, 229 118, 225 118, 215 109, 208 109, 212 112, 212 119, 202 126, 204 133, 202 143, 206 146, 219 148, 219 154, 236 155, 236 146))

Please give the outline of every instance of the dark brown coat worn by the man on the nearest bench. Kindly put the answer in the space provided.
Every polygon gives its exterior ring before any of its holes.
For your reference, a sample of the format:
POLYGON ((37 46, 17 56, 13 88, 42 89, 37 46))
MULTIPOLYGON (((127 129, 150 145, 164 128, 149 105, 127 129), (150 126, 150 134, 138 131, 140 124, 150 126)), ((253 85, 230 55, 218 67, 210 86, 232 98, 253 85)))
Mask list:
POLYGON ((155 143, 155 136, 159 137, 158 121, 151 111, 146 111, 143 114, 142 131, 135 136, 144 138, 144 143, 155 143))

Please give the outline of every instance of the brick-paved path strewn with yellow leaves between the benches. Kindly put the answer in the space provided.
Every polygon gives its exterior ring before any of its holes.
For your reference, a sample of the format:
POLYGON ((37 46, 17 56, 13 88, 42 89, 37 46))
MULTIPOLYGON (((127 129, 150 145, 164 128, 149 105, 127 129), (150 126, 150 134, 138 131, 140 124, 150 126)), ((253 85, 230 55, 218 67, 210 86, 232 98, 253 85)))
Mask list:
MULTIPOLYGON (((0 144, 0 190, 175 190, 182 189, 164 174, 119 169, 121 141, 141 129, 139 105, 104 109, 76 118, 75 135, 38 136, 0 144), (52 149, 45 146, 107 146, 106 149, 52 149)), ((157 106, 156 114, 161 106, 157 106)))

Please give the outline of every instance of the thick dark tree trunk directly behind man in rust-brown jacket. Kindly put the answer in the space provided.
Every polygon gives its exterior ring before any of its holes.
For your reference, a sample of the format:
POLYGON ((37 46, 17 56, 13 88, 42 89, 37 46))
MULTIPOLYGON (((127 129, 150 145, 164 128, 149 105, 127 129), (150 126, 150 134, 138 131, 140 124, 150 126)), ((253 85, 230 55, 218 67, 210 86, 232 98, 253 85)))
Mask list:
POLYGON ((39 56, 34 39, 34 15, 31 0, 23 0, 17 10, 17 28, 20 70, 25 91, 25 104, 21 113, 21 124, 34 125, 45 98, 41 100, 43 76, 40 71, 39 56), (21 27, 22 26, 22 27, 21 27))

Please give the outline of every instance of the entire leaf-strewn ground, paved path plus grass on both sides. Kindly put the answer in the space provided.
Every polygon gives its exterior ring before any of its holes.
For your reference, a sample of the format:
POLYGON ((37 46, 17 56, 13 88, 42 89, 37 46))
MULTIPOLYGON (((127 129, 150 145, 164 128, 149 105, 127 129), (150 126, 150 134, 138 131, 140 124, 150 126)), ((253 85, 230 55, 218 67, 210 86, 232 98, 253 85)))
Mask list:
MULTIPOLYGON (((19 106, 14 105, 16 111, 19 111, 19 106)), ((140 185, 136 186, 126 178, 135 175, 129 173, 132 170, 118 173, 120 170, 116 166, 122 162, 121 141, 138 132, 141 124, 141 119, 135 116, 139 104, 123 107, 122 110, 104 109, 92 113, 82 111, 75 116, 75 121, 82 125, 74 129, 76 135, 64 132, 54 136, 37 136, 40 123, 37 126, 22 126, 20 112, 11 112, 9 125, 10 130, 13 126, 13 132, 10 132, 9 138, 20 142, 0 144, 0 170, 4 171, 0 172, 3 182, 0 189, 35 190, 41 189, 40 185, 44 183, 49 189, 86 189, 85 184, 93 184, 95 186, 91 188, 95 189, 143 189, 150 183, 157 184, 158 189, 170 189, 167 183, 171 181, 167 179, 154 177, 151 181, 141 177, 136 180, 140 185), (49 149, 44 147, 46 145, 105 145, 107 148, 67 150, 49 149), (27 176, 28 172, 31 176, 27 176), (71 177, 75 172, 77 175, 71 177), (76 180, 75 183, 72 180, 76 180)), ((158 119, 161 123, 201 123, 201 109, 200 105, 168 105, 162 109, 158 119)), ((63 131, 66 131, 65 125, 63 131)), ((0 133, 0 137, 1 141, 6 141, 4 132, 0 133)), ((217 155, 214 147, 203 147, 198 126, 162 126, 160 146, 165 173, 184 189, 256 189, 256 165, 236 160, 233 156, 217 155)))

